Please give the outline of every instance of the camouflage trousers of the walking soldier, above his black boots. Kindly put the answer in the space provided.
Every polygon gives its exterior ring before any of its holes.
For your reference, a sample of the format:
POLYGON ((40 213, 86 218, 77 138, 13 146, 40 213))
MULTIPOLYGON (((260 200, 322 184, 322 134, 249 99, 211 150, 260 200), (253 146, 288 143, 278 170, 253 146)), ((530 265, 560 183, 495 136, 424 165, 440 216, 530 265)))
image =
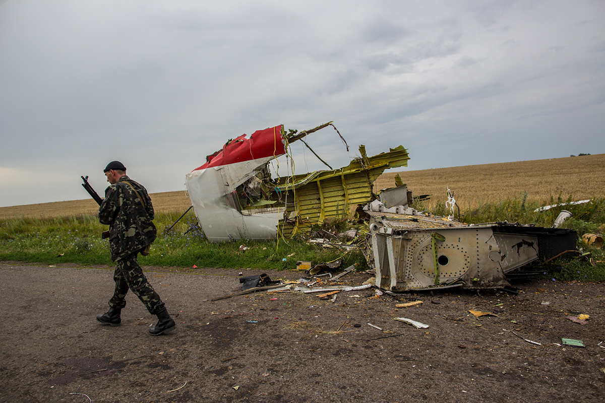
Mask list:
POLYGON ((126 306, 126 293, 128 289, 134 292, 134 295, 139 297, 145 308, 150 314, 155 315, 162 311, 164 303, 160 299, 160 295, 154 291, 153 287, 147 281, 143 269, 137 261, 139 252, 131 253, 116 262, 116 271, 114 271, 114 282, 116 289, 111 297, 110 308, 122 309, 126 306))

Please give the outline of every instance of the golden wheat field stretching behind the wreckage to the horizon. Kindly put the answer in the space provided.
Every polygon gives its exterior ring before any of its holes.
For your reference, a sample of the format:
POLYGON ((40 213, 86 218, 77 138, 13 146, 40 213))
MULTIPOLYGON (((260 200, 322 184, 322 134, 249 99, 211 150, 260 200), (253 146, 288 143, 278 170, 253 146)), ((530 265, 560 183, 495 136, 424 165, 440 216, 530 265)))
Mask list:
MULTIPOLYGON (((446 201, 448 187, 461 208, 480 203, 521 198, 549 204, 551 197, 574 200, 605 197, 605 154, 583 155, 549 160, 484 164, 451 168, 385 172, 374 189, 394 186, 399 173, 414 196, 431 195, 428 205, 446 201)), ((185 190, 151 193, 155 210, 160 213, 185 212, 191 205, 185 190)), ((93 199, 0 207, 0 219, 53 218, 96 214, 93 199)))

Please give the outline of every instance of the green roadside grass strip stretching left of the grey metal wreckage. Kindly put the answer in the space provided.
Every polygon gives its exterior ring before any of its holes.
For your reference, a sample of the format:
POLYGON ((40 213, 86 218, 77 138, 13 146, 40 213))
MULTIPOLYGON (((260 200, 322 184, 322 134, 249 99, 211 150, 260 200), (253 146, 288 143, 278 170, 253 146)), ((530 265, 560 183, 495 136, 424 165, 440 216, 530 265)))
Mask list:
MULTIPOLYGON (((353 263, 358 263, 358 267, 367 266, 360 251, 345 253, 296 239, 208 242, 200 228, 195 226, 195 217, 191 213, 168 231, 179 216, 178 213, 157 214, 154 222, 158 237, 151 247, 151 254, 139 256, 142 265, 294 269, 296 260, 322 263, 342 259, 345 266, 353 263), (189 230, 192 227, 194 229, 189 230), (247 250, 240 251, 240 245, 246 245, 247 250)), ((0 220, 0 260, 48 265, 61 262, 111 265, 108 240, 100 236, 106 229, 95 216, 0 220)))

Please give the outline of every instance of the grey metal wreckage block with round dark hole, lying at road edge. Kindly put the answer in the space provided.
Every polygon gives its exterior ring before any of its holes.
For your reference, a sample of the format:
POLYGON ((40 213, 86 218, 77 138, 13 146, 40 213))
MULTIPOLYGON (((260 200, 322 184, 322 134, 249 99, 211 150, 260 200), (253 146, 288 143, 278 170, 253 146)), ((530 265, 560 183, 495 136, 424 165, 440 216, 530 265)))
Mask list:
POLYGON ((466 225, 436 216, 371 211, 376 286, 391 291, 503 288, 509 275, 574 250, 572 230, 518 224, 466 225))

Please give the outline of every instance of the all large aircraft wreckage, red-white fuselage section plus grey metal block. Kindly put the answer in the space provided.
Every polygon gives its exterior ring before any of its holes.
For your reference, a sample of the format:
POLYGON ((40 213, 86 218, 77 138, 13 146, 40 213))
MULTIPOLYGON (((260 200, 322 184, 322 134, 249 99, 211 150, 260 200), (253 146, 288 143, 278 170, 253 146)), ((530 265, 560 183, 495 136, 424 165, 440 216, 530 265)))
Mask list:
POLYGON ((363 207, 370 226, 368 264, 376 271, 376 286, 390 291, 506 288, 535 263, 575 250, 573 230, 468 225, 419 213, 401 181, 376 196, 373 182, 385 169, 407 166, 410 157, 402 146, 374 156, 360 146, 360 156, 346 167, 271 178, 270 161, 327 126, 332 122, 309 131, 286 134, 280 125, 249 138, 241 135, 186 175, 206 237, 212 242, 292 237, 312 225, 352 217, 363 207))

